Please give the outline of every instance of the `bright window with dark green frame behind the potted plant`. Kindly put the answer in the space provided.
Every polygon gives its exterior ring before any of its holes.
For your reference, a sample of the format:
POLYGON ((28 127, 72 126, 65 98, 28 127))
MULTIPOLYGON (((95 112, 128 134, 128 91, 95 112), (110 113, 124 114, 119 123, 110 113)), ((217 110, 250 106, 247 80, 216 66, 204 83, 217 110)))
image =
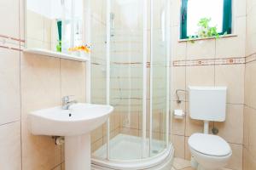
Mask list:
POLYGON ((231 33, 232 0, 182 0, 181 39, 196 36, 198 22, 211 19, 210 26, 216 26, 220 35, 231 33))

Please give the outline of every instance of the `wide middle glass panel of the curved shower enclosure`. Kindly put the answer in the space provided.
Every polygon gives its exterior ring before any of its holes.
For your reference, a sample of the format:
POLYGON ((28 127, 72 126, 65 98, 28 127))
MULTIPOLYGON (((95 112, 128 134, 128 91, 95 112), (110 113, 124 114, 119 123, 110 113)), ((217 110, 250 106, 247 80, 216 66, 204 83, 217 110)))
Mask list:
POLYGON ((109 158, 141 159, 143 0, 110 3, 110 105, 115 110, 110 118, 109 158))

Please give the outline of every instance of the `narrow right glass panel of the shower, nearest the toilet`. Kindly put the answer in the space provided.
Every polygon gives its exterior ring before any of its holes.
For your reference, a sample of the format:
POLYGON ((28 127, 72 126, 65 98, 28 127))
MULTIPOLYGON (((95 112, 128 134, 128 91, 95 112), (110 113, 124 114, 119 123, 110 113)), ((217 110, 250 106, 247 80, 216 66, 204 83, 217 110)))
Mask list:
POLYGON ((151 156, 166 149, 166 0, 152 1, 150 111, 152 122, 151 156))

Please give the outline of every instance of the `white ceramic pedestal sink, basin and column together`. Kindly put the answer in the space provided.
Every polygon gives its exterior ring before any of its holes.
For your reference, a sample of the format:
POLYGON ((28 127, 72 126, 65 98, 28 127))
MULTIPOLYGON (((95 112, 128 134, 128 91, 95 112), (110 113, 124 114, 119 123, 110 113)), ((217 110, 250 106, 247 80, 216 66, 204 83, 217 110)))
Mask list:
POLYGON ((28 115, 30 130, 35 135, 65 137, 67 170, 90 170, 90 131, 106 122, 113 111, 110 105, 75 104, 69 110, 61 106, 28 115))

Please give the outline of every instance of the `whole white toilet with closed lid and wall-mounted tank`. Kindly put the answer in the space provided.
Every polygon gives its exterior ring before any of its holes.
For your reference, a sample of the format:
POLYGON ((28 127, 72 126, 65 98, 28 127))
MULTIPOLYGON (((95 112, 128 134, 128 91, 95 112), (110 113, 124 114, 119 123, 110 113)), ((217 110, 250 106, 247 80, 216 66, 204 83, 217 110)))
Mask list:
POLYGON ((230 144, 218 135, 209 134, 209 122, 224 122, 226 87, 189 87, 189 116, 204 122, 204 133, 189 137, 191 167, 197 170, 220 170, 230 160, 230 144))

